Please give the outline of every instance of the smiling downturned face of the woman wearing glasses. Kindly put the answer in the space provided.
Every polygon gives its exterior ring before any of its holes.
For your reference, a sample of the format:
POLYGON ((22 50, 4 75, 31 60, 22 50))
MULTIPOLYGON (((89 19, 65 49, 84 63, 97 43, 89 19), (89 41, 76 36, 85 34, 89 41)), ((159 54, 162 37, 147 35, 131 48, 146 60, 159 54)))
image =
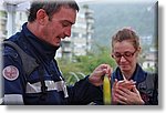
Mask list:
POLYGON ((128 40, 114 42, 113 58, 123 73, 134 72, 137 62, 138 50, 128 40))

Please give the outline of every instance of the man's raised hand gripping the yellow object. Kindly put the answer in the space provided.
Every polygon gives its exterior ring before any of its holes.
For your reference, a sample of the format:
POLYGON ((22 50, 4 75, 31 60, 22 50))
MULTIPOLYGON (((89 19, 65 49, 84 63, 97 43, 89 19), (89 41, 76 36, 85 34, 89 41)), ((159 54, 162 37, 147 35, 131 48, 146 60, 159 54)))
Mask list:
POLYGON ((89 76, 89 81, 93 85, 100 86, 103 84, 103 76, 106 74, 108 75, 108 78, 111 78, 111 72, 112 72, 112 69, 108 64, 101 64, 89 76))

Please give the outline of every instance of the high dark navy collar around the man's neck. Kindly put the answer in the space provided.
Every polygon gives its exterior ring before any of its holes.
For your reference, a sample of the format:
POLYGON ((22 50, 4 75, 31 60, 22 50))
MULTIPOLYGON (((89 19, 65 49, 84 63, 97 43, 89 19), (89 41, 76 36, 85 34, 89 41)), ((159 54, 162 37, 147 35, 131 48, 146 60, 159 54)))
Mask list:
POLYGON ((44 61, 52 60, 55 56, 55 52, 59 47, 53 47, 39 38, 37 38, 28 28, 27 22, 22 25, 23 34, 25 35, 25 40, 31 44, 33 51, 38 56, 41 56, 44 61))

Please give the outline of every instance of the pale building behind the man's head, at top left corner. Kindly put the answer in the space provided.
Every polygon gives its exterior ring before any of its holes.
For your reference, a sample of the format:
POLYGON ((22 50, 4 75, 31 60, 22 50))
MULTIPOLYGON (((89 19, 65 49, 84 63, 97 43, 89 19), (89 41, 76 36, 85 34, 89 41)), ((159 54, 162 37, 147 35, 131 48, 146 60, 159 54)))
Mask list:
POLYGON ((4 0, 0 4, 0 28, 1 40, 7 39, 21 30, 22 24, 28 20, 30 2, 18 0, 4 0))

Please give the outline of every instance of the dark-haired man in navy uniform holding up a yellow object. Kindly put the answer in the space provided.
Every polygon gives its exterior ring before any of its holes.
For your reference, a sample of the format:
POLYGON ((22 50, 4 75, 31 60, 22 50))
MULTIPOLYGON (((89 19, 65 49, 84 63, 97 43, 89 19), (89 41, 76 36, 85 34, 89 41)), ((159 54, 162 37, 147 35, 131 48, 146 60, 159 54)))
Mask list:
POLYGON ((22 56, 22 52, 20 54, 4 44, 3 104, 63 105, 102 101, 102 76, 111 74, 107 64, 98 65, 74 86, 66 86, 54 60, 61 39, 71 35, 77 11, 75 1, 45 0, 31 4, 28 22, 22 25, 21 32, 8 40, 19 45, 29 56, 22 56))

